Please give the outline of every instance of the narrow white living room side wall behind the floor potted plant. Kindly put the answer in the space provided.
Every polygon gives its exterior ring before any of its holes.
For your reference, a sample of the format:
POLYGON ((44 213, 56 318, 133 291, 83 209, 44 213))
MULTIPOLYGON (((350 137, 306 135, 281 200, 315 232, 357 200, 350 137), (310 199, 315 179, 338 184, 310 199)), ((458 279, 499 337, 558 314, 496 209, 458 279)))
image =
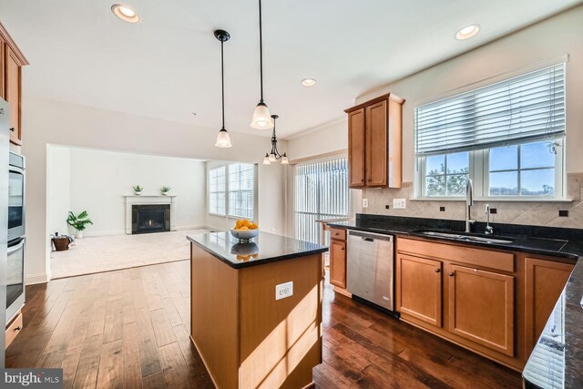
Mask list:
POLYGON ((71 210, 71 153, 69 148, 46 149, 46 225, 48 232, 66 234, 71 210))

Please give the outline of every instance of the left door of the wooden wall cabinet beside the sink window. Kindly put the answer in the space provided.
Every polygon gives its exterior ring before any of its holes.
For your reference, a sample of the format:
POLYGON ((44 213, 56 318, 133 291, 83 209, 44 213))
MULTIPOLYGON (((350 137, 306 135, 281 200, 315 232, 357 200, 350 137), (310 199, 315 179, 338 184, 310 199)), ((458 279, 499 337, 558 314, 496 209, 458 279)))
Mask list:
POLYGON ((348 179, 351 188, 362 188, 365 166, 364 108, 348 114, 348 179))

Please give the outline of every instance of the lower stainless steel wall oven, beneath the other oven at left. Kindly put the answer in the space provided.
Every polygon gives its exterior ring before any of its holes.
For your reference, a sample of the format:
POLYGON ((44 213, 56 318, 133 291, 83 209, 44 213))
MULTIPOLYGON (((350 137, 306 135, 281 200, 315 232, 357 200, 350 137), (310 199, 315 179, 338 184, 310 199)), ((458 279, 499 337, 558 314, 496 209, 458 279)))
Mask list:
POLYGON ((6 322, 25 303, 25 238, 10 242, 6 266, 6 322))

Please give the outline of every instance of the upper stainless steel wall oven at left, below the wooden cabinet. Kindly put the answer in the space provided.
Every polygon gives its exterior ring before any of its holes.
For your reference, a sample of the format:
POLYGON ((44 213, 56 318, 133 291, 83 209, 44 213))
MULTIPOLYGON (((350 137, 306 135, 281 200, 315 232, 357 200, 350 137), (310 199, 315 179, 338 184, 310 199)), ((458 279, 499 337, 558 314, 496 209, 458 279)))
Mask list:
POLYGON ((25 158, 10 152, 8 165, 8 241, 25 236, 25 158))

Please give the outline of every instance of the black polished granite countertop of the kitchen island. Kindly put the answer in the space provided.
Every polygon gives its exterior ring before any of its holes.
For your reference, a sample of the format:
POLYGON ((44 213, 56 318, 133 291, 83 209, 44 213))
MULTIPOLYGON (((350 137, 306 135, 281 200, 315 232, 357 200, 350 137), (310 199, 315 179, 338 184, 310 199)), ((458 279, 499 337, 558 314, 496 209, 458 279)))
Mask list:
POLYGON ((187 239, 234 269, 328 251, 327 247, 319 244, 262 231, 250 243, 240 243, 230 231, 189 235, 187 239))

